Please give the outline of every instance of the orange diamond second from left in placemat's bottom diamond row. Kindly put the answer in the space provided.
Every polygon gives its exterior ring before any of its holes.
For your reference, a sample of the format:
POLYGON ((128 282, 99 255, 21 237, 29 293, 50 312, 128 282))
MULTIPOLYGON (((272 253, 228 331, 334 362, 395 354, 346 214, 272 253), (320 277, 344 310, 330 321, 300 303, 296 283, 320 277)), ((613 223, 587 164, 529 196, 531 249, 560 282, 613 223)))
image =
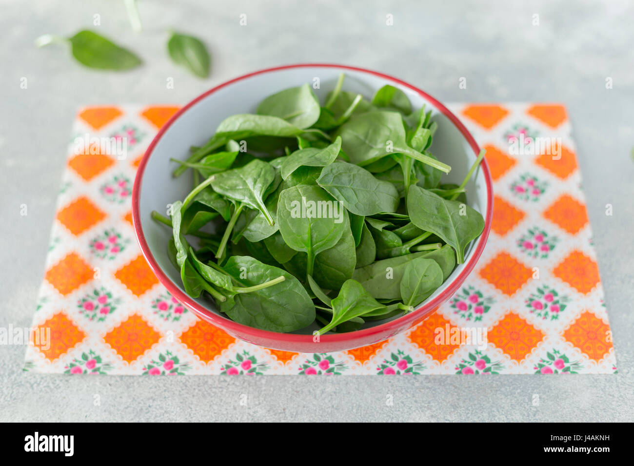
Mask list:
POLYGON ((138 314, 132 314, 125 321, 107 333, 104 341, 127 363, 135 361, 160 340, 156 332, 138 314))

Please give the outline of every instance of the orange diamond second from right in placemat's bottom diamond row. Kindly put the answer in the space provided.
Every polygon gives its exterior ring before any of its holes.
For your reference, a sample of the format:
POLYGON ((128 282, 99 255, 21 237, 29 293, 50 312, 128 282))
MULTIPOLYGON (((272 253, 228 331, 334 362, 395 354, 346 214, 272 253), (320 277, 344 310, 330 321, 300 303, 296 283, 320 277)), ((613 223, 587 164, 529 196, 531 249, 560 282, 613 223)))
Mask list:
POLYGON ((543 340, 544 333, 515 313, 508 313, 487 332, 487 339, 519 362, 543 340))

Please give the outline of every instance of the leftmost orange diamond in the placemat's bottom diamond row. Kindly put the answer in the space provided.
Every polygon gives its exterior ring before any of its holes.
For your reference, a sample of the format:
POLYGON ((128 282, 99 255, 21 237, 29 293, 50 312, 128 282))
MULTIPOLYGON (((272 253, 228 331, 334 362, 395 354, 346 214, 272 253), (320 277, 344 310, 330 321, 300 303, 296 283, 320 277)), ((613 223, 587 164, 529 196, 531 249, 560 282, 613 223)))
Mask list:
POLYGON ((68 353, 77 344, 86 338, 86 333, 82 332, 64 313, 59 312, 36 329, 39 340, 31 336, 34 346, 49 361, 59 358, 62 354, 68 353), (50 331, 49 340, 46 336, 50 331))

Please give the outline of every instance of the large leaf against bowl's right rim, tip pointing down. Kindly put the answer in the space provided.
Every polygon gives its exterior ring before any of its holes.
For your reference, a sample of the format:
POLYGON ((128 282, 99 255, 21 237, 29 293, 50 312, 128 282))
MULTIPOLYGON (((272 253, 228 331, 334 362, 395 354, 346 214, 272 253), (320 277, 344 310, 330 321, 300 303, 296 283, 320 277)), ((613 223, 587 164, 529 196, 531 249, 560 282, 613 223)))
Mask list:
POLYGON ((425 231, 431 231, 456 250, 458 264, 464 262, 464 250, 484 230, 480 212, 469 205, 410 186, 407 202, 411 221, 425 231))

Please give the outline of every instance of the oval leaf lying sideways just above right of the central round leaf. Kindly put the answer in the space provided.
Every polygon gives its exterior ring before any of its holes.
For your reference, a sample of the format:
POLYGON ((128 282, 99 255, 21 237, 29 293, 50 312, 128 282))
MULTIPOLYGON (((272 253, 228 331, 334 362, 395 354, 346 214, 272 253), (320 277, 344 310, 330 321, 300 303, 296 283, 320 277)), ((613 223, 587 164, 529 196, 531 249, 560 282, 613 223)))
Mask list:
POLYGON ((398 208, 396 188, 354 164, 337 162, 328 165, 321 171, 317 183, 356 215, 371 216, 398 208))

